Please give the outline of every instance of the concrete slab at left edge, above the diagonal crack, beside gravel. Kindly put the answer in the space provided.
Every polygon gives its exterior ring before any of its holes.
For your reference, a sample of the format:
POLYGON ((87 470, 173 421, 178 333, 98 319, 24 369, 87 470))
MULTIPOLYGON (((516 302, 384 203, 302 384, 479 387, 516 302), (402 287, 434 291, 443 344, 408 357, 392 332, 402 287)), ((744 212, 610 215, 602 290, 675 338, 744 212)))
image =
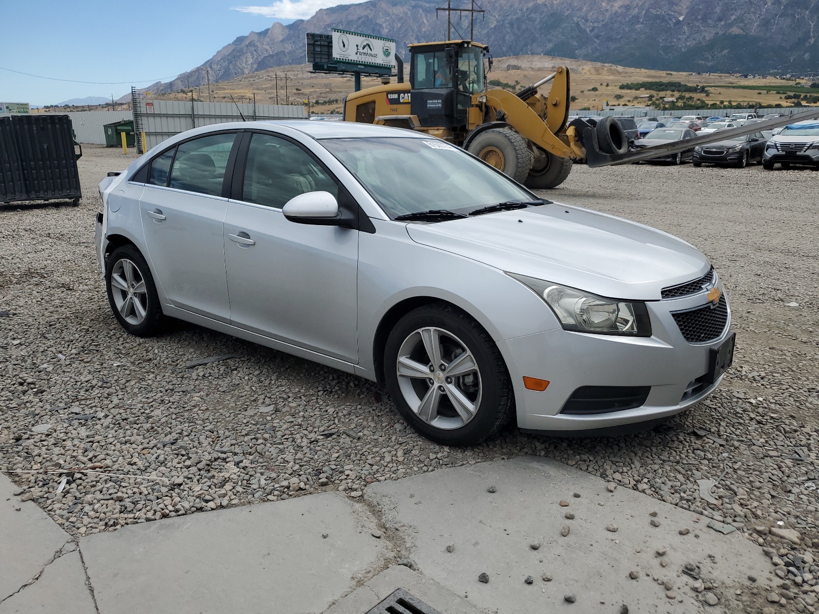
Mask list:
POLYGON ((0 474, 0 601, 36 576, 71 540, 36 504, 14 496, 16 490, 0 474))

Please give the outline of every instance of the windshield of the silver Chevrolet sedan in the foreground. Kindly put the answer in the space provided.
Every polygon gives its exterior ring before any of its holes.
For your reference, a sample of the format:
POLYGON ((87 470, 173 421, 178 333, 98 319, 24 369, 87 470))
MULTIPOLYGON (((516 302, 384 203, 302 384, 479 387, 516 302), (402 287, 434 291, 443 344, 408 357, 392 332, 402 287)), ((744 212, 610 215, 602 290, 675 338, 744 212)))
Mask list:
POLYGON ((393 217, 533 198, 504 174, 438 139, 333 138, 321 143, 393 217))

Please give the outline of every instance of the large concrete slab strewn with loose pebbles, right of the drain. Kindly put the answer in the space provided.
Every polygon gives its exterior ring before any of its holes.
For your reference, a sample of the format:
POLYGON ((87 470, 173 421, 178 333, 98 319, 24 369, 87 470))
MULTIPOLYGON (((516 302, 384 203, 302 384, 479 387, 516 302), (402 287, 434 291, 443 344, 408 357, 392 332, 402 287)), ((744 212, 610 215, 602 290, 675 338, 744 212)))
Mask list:
POLYGON ((387 530, 411 544, 409 556, 424 576, 500 614, 565 607, 618 612, 624 603, 631 612, 701 612, 703 594, 681 573, 686 562, 699 566, 703 578, 715 583, 720 605, 733 609, 739 605, 734 590, 747 589, 747 576, 767 580, 771 569, 762 550, 740 533, 719 534, 706 528, 708 519, 697 522, 695 514, 634 490, 610 493, 600 478, 543 458, 382 482, 364 496, 382 508, 387 530), (495 493, 486 491, 490 485, 495 493), (654 510, 657 516, 649 516, 654 510), (566 519, 566 512, 574 519, 566 519), (609 525, 617 531, 607 530, 609 525), (563 526, 570 527, 565 537, 563 526), (688 535, 679 534, 684 528, 688 535), (536 541, 541 547, 531 549, 536 541), (452 553, 448 544, 455 544, 452 553), (667 550, 663 556, 661 548, 667 550), (630 571, 638 572, 636 580, 630 571), (487 584, 478 581, 483 572, 487 584), (544 574, 553 580, 543 580, 544 574), (524 582, 527 576, 532 585, 524 582), (672 592, 658 580, 670 582, 672 592), (577 596, 574 605, 564 601, 568 594, 577 596))

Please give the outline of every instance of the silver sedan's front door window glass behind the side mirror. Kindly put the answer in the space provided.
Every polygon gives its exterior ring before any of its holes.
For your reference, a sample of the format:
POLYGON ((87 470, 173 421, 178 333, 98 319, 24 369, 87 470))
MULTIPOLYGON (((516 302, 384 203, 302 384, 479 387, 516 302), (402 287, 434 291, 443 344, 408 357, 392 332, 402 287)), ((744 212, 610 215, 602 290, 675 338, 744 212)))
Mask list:
POLYGON ((242 200, 281 209, 293 196, 338 186, 310 154, 270 134, 254 134, 247 151, 242 200))

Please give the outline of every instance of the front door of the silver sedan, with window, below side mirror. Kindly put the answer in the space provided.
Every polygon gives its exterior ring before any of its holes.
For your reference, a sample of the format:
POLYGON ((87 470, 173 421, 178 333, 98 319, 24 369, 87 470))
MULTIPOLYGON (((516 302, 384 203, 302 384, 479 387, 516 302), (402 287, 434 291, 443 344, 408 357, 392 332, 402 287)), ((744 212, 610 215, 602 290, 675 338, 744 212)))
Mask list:
MULTIPOLYGON (((234 175, 241 180, 241 169, 234 175)), ((358 361, 358 231, 288 221, 293 196, 335 180, 307 151, 270 134, 252 135, 242 197, 224 223, 230 319, 234 326, 358 361)), ((236 192, 234 192, 236 193, 236 192)))

